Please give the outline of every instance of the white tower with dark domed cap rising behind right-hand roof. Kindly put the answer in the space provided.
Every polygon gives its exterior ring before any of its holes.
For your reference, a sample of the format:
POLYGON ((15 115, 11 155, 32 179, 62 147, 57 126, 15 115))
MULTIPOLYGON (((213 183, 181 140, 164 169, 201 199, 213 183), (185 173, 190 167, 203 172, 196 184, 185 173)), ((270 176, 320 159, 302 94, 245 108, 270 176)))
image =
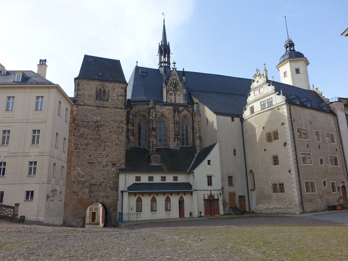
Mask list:
POLYGON ((307 66, 309 62, 300 52, 295 51, 295 44, 288 38, 284 44, 285 54, 279 59, 276 66, 280 81, 303 89, 310 90, 307 66))

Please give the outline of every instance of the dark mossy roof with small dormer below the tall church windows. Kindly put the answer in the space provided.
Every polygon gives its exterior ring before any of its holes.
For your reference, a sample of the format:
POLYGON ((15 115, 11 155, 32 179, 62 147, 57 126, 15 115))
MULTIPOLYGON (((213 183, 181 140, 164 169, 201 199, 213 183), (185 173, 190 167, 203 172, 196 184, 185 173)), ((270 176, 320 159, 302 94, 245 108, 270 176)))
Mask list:
POLYGON ((192 146, 157 148, 162 165, 150 165, 150 152, 147 148, 134 147, 126 151, 126 167, 120 172, 186 172, 196 155, 192 146))

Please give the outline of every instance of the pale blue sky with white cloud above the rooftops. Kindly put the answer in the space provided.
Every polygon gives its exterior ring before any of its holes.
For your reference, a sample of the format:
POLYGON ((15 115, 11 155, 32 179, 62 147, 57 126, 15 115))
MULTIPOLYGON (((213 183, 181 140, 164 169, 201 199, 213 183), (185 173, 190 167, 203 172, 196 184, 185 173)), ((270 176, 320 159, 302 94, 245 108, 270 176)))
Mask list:
POLYGON ((346 0, 0 0, 0 63, 37 72, 70 97, 85 54, 120 60, 128 81, 136 61, 158 68, 165 14, 171 61, 185 71, 251 79, 276 65, 288 34, 307 57, 310 86, 326 98, 348 97, 346 0))

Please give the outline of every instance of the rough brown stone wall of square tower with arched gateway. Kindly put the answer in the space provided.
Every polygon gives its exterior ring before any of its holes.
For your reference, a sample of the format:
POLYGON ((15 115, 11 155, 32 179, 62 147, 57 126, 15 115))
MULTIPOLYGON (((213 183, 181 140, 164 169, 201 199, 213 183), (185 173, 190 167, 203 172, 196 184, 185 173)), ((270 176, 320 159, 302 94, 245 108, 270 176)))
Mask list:
POLYGON ((81 227, 87 207, 99 202, 107 210, 107 226, 116 226, 117 168, 125 166, 126 153, 126 87, 76 80, 69 129, 65 225, 81 227), (108 88, 108 101, 95 100, 101 85, 108 88))

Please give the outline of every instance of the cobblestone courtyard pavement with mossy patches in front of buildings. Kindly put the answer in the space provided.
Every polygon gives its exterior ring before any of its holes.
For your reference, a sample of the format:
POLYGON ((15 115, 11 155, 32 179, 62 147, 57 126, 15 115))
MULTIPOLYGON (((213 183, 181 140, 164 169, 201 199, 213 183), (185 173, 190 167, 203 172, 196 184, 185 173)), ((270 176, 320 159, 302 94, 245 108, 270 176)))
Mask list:
POLYGON ((67 228, 0 220, 0 260, 348 260, 346 224, 250 216, 67 228))

